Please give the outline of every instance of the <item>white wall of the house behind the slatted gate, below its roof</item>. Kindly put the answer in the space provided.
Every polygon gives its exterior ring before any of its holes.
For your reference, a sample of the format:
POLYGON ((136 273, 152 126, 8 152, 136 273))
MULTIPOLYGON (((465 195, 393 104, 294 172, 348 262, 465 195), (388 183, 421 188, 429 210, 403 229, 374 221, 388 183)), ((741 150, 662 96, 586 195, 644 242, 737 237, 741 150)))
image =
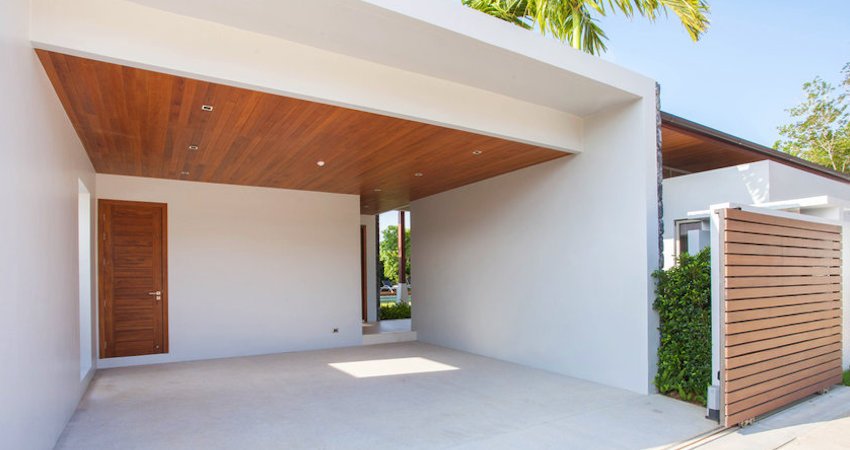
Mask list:
MULTIPOLYGON (((850 201, 850 184, 831 180, 774 161, 760 161, 725 167, 664 180, 664 260, 675 263, 675 227, 688 212, 708 210, 712 204, 737 203, 759 206, 765 203, 829 196, 850 201)), ((844 327, 850 329, 850 215, 843 207, 801 208, 802 214, 843 223, 844 246, 844 327)), ((844 333, 844 365, 850 364, 850 333, 844 333)))

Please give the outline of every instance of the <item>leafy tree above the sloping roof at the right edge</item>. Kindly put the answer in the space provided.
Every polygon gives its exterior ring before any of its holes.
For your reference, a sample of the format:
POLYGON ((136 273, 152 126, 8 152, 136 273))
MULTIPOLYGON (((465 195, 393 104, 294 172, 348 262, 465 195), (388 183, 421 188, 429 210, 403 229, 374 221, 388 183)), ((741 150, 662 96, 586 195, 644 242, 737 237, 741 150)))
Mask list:
POLYGON ((842 86, 816 77, 803 85, 806 99, 788 110, 792 123, 779 127, 774 148, 839 172, 850 172, 850 63, 842 86))

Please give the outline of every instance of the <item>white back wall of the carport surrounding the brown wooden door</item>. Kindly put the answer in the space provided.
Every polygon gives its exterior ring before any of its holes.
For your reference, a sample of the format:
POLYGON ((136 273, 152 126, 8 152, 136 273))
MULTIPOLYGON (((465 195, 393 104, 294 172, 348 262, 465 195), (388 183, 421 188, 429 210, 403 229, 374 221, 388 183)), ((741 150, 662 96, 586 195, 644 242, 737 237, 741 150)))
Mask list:
POLYGON ((98 198, 168 204, 170 352, 98 367, 361 343, 357 196, 102 174, 97 182, 98 198))

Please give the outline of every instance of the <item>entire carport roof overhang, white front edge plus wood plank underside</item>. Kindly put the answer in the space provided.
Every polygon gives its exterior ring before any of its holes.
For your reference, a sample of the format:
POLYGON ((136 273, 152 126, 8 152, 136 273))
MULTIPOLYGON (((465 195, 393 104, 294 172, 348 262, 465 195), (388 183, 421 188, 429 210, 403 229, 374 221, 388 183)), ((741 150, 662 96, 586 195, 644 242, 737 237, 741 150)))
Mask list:
POLYGON ((580 153, 585 117, 655 101, 654 81, 459 2, 33 0, 31 39, 98 172, 360 195, 369 214, 580 153))

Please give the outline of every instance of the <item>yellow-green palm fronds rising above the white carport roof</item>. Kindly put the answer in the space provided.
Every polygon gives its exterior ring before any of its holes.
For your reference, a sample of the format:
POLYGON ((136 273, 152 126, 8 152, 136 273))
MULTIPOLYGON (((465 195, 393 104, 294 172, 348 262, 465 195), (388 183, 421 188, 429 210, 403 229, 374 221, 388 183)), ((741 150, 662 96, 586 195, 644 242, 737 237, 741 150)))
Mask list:
POLYGON ((525 29, 539 28, 578 50, 592 55, 607 50, 605 32, 594 14, 620 11, 654 21, 672 11, 691 39, 698 41, 708 29, 706 0, 462 0, 463 4, 525 29))

